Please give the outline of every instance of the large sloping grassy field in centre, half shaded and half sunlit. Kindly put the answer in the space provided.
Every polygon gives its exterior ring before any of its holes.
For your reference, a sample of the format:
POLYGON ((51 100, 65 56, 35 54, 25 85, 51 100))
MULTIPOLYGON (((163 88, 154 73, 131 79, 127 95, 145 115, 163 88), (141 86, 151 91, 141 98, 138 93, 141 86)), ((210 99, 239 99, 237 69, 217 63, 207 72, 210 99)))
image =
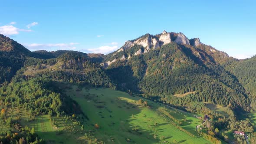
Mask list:
MULTIPOLYGON (((63 88, 67 85, 63 85, 63 88)), ((140 97, 109 88, 79 89, 72 85, 66 88, 66 94, 79 103, 89 121, 85 129, 95 131, 95 137, 106 143, 137 144, 172 143, 209 144, 210 141, 197 135, 196 126, 201 121, 186 112, 167 108, 164 105, 148 101, 151 108, 137 105, 140 97), (174 119, 170 118, 169 113, 174 119), (190 136, 175 125, 186 119, 181 128, 195 136, 190 136), (98 124, 99 129, 94 125, 98 124)))

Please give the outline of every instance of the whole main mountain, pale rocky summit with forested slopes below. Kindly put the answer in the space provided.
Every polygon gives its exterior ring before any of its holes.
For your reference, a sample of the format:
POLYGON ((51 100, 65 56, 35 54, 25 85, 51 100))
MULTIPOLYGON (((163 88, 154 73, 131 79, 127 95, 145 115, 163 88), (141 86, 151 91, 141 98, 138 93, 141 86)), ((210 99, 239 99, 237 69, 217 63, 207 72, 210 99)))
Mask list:
POLYGON ((128 92, 160 97, 171 105, 192 109, 196 109, 190 105, 192 102, 202 101, 229 106, 238 113, 249 111, 250 101, 243 86, 220 64, 228 59, 233 58, 199 39, 163 32, 126 42, 118 51, 106 55, 102 66, 118 88, 128 92), (174 96, 188 92, 190 95, 182 98, 174 96))

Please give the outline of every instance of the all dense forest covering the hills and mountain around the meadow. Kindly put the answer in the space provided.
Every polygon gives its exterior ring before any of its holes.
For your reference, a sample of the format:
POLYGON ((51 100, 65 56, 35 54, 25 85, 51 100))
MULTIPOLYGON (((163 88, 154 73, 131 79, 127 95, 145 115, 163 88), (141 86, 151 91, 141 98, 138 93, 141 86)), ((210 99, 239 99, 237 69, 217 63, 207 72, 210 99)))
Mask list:
MULTIPOLYGON (((151 35, 140 38, 147 36, 151 35)), ((151 37, 159 39, 158 35, 151 37)), ((220 130, 253 132, 252 124, 243 115, 256 111, 256 56, 238 60, 204 44, 168 43, 146 51, 145 47, 135 44, 106 56, 64 50, 30 52, 0 35, 0 110, 3 110, 0 120, 14 124, 4 113, 13 107, 29 111, 31 121, 35 115, 42 114, 74 114, 86 118, 76 101, 56 86, 56 82, 67 82, 118 89, 209 115, 214 120, 214 128, 220 130), (143 54, 135 55, 138 51, 143 54), (113 60, 115 62, 102 67, 102 62, 113 60), (226 108, 226 113, 215 111, 207 104, 226 108)), ((209 133, 212 131, 209 129, 209 133)), ((24 128, 22 134, 15 137, 14 132, 8 132, 8 137, 0 141, 43 143, 30 128, 24 128)), ((225 140, 223 134, 216 137, 225 140)))

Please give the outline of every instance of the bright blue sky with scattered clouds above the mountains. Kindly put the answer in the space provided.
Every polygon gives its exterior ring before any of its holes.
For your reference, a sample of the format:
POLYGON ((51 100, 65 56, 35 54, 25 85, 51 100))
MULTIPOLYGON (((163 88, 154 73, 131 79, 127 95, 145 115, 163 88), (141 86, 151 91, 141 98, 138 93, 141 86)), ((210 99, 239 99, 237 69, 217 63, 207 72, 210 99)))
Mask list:
POLYGON ((0 33, 31 51, 106 54, 166 30, 236 58, 256 54, 255 0, 2 0, 0 10, 0 33))

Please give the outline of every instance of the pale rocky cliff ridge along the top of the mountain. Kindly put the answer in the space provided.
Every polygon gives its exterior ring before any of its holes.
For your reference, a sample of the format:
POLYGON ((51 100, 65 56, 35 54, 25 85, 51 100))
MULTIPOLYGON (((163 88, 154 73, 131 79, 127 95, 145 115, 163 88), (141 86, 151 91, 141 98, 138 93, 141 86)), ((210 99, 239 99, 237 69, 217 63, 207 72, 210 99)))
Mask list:
MULTIPOLYGON (((201 43, 199 38, 188 39, 183 33, 174 33, 174 32, 167 33, 164 30, 161 34, 156 34, 156 35, 145 34, 136 39, 126 41, 125 44, 121 46, 121 48, 107 54, 105 57, 108 57, 107 58, 108 61, 102 62, 101 65, 104 68, 107 68, 110 64, 118 61, 119 59, 120 60, 131 59, 131 56, 138 56, 138 55, 147 53, 150 50, 158 49, 161 46, 164 46, 168 43, 177 43, 179 45, 184 45, 187 47, 193 46, 200 50, 206 51, 207 55, 212 56, 213 58, 217 57, 216 55, 219 55, 218 57, 222 56, 221 58, 229 57, 226 52, 221 52, 213 48, 212 46, 208 46, 201 43), (141 46, 141 48, 136 49, 135 52, 130 53, 128 55, 121 55, 119 57, 116 57, 116 55, 119 52, 128 51, 128 49, 131 49, 131 47, 135 45, 141 46), (115 57, 115 58, 111 58, 111 57, 115 57)), ((197 53, 197 55, 200 56, 199 53, 197 53)), ((220 58, 216 58, 216 60, 217 62, 221 61, 220 58)))

